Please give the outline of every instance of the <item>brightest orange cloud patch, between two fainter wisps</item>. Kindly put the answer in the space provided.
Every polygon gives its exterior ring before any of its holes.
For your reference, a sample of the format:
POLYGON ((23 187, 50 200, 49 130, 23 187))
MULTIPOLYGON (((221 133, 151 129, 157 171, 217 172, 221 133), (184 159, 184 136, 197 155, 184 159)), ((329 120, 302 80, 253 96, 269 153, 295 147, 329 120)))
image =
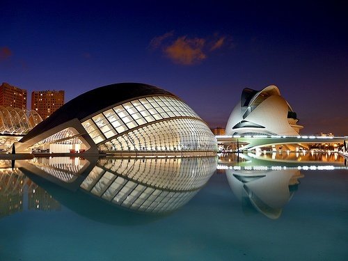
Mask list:
POLYGON ((182 36, 173 45, 166 47, 164 53, 174 63, 194 65, 207 58, 203 52, 204 45, 205 40, 202 38, 187 39, 187 36, 182 36))

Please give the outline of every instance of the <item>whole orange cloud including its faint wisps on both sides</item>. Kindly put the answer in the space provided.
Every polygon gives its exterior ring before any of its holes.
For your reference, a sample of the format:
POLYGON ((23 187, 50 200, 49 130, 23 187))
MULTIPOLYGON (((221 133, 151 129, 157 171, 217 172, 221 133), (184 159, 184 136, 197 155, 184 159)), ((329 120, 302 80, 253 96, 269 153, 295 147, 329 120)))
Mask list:
POLYGON ((152 38, 149 47, 152 50, 160 49, 166 58, 179 65, 197 65, 202 63, 209 52, 223 46, 232 46, 232 40, 217 33, 213 38, 189 38, 188 35, 173 40, 174 31, 152 38))

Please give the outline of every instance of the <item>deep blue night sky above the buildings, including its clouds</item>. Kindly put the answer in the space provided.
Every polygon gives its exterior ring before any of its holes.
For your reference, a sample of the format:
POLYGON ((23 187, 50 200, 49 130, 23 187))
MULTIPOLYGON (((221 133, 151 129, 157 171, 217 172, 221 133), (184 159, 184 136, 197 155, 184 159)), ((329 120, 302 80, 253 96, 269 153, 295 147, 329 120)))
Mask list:
POLYGON ((4 1, 0 84, 141 82, 226 127, 244 88, 274 84, 301 134, 348 135, 347 1, 4 1), (56 3, 52 3, 56 2, 56 3), (143 2, 143 3, 141 3, 143 2))

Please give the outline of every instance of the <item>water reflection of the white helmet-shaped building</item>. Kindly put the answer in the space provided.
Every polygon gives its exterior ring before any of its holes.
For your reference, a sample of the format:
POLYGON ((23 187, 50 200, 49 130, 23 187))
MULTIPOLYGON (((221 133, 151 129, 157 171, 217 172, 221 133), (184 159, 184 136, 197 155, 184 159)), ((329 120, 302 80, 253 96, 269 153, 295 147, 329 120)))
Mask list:
POLYGON ((278 219, 292 198, 300 177, 299 170, 232 171, 226 170, 228 184, 242 202, 245 213, 257 210, 270 219, 278 219))

